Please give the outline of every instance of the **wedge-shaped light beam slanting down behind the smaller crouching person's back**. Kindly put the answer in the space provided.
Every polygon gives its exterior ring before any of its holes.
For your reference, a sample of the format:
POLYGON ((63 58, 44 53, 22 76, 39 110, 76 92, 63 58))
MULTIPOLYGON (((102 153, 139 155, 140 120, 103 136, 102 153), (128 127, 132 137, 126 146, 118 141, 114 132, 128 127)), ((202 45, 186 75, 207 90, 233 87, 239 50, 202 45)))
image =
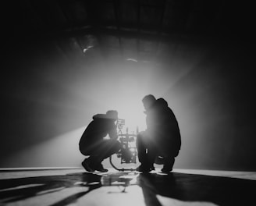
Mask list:
POLYGON ((85 128, 83 126, 27 147, 12 154, 6 161, 16 162, 19 159, 19 164, 22 162, 24 167, 80 166, 83 154, 80 154, 78 143, 85 128))

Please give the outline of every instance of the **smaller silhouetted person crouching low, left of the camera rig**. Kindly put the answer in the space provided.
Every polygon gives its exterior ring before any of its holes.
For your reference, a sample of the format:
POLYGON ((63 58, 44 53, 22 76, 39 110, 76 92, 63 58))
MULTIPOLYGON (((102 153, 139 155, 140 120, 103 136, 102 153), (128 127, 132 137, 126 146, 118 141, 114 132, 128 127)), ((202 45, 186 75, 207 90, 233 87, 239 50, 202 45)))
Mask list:
POLYGON ((98 170, 100 172, 108 172, 104 169, 101 162, 115 154, 120 149, 120 143, 117 140, 116 120, 118 112, 109 110, 106 114, 97 114, 93 116, 93 121, 87 126, 80 142, 79 149, 84 155, 89 155, 85 158, 82 165, 88 172, 98 170), (109 139, 104 137, 109 136, 109 139))

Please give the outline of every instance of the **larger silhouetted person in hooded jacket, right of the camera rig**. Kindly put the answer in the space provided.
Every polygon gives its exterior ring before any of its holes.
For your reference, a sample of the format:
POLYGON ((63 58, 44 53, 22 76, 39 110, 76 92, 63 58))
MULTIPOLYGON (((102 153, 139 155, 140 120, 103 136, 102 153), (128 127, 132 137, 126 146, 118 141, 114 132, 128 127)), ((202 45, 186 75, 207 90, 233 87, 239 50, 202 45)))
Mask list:
POLYGON ((140 172, 154 168, 155 160, 162 158, 162 172, 172 171, 175 158, 179 154, 181 139, 176 116, 163 99, 155 99, 151 94, 142 99, 145 108, 147 130, 137 135, 137 151, 141 165, 140 172))

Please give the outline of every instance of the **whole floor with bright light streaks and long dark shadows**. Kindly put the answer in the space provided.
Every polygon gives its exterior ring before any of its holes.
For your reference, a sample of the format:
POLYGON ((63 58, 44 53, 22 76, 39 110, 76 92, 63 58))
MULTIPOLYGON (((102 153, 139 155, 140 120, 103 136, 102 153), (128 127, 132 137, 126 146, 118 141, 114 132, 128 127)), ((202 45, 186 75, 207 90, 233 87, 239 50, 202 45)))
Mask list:
POLYGON ((0 169, 0 205, 254 205, 256 172, 0 169))

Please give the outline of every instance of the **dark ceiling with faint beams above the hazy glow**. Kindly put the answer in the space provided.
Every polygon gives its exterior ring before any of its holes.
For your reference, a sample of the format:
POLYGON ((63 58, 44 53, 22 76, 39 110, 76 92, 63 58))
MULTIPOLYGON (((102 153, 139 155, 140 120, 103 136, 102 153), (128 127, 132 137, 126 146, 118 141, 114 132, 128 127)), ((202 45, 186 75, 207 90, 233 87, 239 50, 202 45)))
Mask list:
POLYGON ((97 46, 105 54, 113 50, 121 53, 132 50, 143 55, 159 52, 161 44, 170 39, 241 38, 247 34, 249 24, 240 4, 221 0, 23 0, 9 3, 5 11, 5 34, 9 44, 51 40, 63 49, 65 39, 69 48, 64 50, 80 49, 80 52, 97 46))

